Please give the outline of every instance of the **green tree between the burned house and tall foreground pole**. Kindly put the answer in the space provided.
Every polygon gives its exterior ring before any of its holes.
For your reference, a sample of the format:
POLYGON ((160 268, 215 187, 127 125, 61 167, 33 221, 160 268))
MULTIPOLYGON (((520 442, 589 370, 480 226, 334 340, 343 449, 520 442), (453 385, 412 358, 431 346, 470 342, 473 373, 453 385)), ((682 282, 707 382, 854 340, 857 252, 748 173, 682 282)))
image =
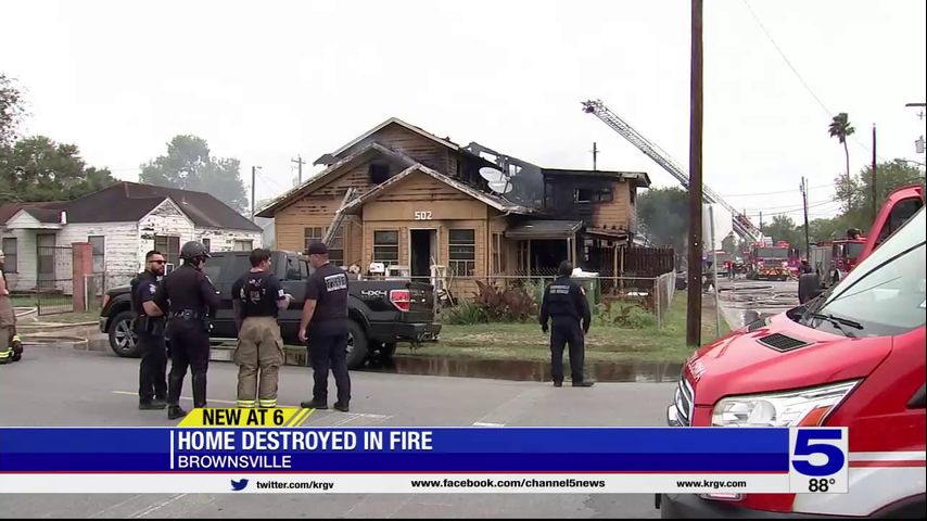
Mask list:
POLYGON ((681 188, 651 188, 637 199, 637 218, 656 244, 684 255, 688 237, 688 196, 681 188))

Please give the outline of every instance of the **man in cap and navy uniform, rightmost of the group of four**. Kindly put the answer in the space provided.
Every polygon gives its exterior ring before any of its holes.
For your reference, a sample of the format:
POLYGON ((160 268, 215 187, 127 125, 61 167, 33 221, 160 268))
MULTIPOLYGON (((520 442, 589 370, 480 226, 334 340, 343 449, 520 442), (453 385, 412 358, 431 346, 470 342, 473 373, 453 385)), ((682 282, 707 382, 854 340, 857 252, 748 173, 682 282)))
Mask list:
POLYGON ((351 402, 351 378, 347 374, 347 274, 328 262, 328 249, 323 243, 309 244, 308 254, 315 272, 306 282, 300 342, 307 342, 315 385, 313 401, 300 405, 313 409, 328 408, 328 370, 331 368, 338 386, 334 408, 347 412, 347 404, 351 402))

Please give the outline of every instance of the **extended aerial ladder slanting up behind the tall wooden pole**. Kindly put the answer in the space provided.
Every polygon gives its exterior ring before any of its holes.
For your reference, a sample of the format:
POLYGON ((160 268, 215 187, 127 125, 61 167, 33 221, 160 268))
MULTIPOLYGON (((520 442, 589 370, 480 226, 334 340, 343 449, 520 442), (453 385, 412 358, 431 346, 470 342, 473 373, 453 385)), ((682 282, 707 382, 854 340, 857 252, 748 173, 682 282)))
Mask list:
MULTIPOLYGON (((664 152, 660 147, 657 147, 656 143, 650 141, 640 135, 637 130, 635 130, 631 125, 627 124, 624 119, 619 117, 615 113, 611 112, 609 107, 601 102, 601 100, 588 100, 584 101, 583 111, 587 114, 595 114, 599 119, 605 122, 606 125, 611 127, 612 130, 620 134, 624 139, 631 142, 631 144, 637 147, 642 152, 644 152, 648 157, 653 160, 658 165, 662 166, 664 170, 669 171, 671 176, 675 177, 683 187, 688 189, 689 187, 689 175, 676 163, 670 154, 664 152)), ((734 231, 740 236, 744 240, 749 242, 759 242, 762 240, 762 232, 759 228, 753 226, 750 223, 750 219, 747 218, 746 215, 738 212, 734 206, 726 203, 721 195, 715 193, 714 190, 708 188, 707 185, 702 185, 702 194, 704 196, 706 202, 712 204, 720 204, 725 209, 731 212, 732 223, 734 225, 734 231)))

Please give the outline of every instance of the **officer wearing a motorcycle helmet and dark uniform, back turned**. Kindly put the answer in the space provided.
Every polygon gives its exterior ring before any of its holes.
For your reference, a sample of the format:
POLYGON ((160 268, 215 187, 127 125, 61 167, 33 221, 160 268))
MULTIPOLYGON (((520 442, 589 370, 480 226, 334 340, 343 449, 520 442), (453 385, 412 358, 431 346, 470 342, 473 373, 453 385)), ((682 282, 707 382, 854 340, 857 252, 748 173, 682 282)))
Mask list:
POLYGON ((190 241, 180 249, 183 265, 161 283, 155 303, 168 309, 170 374, 167 378, 167 418, 182 418, 180 391, 189 366, 193 376, 193 407, 206 406, 206 369, 209 365, 209 322, 219 306, 213 282, 203 274, 209 253, 202 242, 190 241))

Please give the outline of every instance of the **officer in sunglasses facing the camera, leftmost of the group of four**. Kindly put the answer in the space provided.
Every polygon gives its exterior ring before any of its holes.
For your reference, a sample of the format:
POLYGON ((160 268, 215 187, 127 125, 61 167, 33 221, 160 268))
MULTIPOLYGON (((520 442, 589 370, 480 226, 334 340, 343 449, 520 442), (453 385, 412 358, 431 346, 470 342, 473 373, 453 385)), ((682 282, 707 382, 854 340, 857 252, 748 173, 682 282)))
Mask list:
POLYGON ((167 348, 164 342, 164 313, 154 303, 164 277, 164 255, 152 250, 144 256, 144 271, 132 279, 135 330, 141 350, 139 365, 139 409, 167 407, 167 348))

